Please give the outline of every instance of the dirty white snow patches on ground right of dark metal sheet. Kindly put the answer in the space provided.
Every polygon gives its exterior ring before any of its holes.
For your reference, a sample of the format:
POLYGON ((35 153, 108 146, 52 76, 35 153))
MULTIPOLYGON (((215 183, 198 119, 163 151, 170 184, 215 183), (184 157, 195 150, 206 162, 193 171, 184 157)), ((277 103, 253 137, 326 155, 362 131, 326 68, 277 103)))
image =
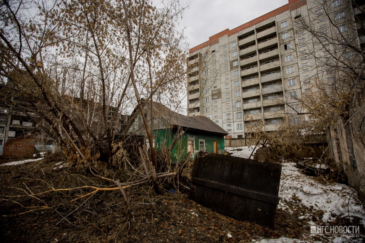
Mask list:
MULTIPOLYGON (((232 156, 248 158, 253 150, 251 147, 226 148, 226 151, 233 152, 232 156), (237 151, 241 150, 241 151, 237 151)), ((322 222, 326 225, 327 222, 335 219, 336 216, 357 216, 362 219, 362 224, 365 226, 365 211, 361 206, 354 189, 344 184, 339 183, 319 183, 316 177, 308 177, 304 175, 295 163, 284 163, 281 169, 281 180, 279 188, 280 202, 278 208, 288 210, 289 205, 286 201, 294 201, 295 203, 312 208, 316 211, 323 211, 322 222), (286 201, 285 201, 286 200, 286 201)), ((311 215, 302 215, 300 219, 306 219, 308 225, 315 225, 311 220, 311 215)), ((360 226, 361 227, 361 226, 360 226)), ((361 231, 360 231, 361 232, 361 231)), ((330 237, 330 236, 328 236, 330 237)), ((329 238, 328 238, 329 239, 329 238)), ((349 239, 334 237, 332 242, 362 242, 364 236, 360 238, 349 239)), ((279 238, 279 239, 263 239, 261 243, 294 243, 306 242, 298 239, 279 238)))

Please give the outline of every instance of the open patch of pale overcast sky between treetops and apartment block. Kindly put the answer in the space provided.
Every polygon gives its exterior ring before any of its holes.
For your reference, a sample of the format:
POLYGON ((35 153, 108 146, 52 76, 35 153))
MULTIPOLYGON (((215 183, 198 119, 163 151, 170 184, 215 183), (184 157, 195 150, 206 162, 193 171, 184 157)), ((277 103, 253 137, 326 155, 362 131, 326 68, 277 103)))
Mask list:
POLYGON ((240 26, 288 3, 288 0, 191 0, 181 25, 186 27, 189 48, 227 28, 240 26))

